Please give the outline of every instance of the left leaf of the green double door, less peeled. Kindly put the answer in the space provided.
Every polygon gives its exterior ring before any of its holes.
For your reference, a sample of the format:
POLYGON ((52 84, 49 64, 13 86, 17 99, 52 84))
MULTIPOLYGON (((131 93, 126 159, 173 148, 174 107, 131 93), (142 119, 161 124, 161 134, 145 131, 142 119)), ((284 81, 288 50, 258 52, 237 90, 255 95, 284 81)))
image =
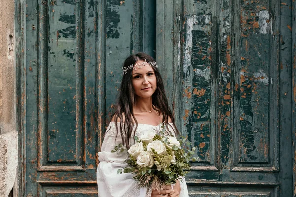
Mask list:
POLYGON ((155 56, 155 2, 26 0, 16 10, 25 41, 20 196, 95 197, 121 65, 135 51, 155 56))

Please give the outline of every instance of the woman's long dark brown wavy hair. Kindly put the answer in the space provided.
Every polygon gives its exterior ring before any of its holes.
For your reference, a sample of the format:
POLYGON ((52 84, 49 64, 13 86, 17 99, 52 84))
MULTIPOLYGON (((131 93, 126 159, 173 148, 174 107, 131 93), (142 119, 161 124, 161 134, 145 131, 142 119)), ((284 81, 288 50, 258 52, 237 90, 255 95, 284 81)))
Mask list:
MULTIPOLYGON (((137 53, 132 54, 123 63, 123 69, 127 68, 130 65, 134 65, 138 60, 146 61, 146 62, 154 62, 154 58, 151 56, 145 54, 145 53, 137 53)), ((162 122, 166 125, 168 129, 168 123, 169 119, 171 119, 171 122, 173 124, 173 130, 175 132, 175 135, 179 134, 178 129, 175 125, 175 119, 172 114, 172 111, 170 110, 168 106, 168 99, 165 95, 164 91, 164 85, 162 81, 162 77, 157 70, 156 67, 151 66, 154 70, 155 76, 156 76, 156 82, 157 87, 152 95, 152 105, 153 109, 158 111, 159 114, 162 115, 162 122)), ((115 112, 111 115, 111 120, 114 120, 115 122, 119 122, 119 128, 118 124, 115 124, 117 134, 120 133, 123 145, 125 145, 127 148, 129 148, 129 142, 131 139, 131 136, 135 136, 135 131, 138 127, 137 119, 134 116, 133 112, 133 106, 135 102, 135 93, 134 89, 132 87, 132 72, 133 69, 129 69, 126 74, 123 75, 121 86, 119 90, 119 96, 117 99, 117 103, 115 105, 115 112), (136 124, 135 130, 134 130, 134 121, 136 124)))

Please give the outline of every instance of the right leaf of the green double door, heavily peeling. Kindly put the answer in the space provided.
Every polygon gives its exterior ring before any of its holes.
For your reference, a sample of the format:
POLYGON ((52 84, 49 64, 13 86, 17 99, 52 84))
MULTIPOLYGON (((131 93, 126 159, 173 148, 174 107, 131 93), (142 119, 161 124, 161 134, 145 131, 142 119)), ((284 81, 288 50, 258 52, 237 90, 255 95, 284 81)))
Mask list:
POLYGON ((198 147, 191 197, 293 195, 291 4, 157 0, 157 61, 198 147))

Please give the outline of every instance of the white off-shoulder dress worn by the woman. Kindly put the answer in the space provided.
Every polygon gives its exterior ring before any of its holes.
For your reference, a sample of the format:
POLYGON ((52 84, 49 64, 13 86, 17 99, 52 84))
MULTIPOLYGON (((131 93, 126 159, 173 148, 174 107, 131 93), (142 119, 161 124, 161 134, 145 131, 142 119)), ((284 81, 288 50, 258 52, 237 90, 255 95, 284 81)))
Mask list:
MULTIPOLYGON (((107 128, 108 132, 102 143, 101 152, 98 153, 100 161, 97 169, 99 197, 150 197, 151 191, 146 192, 146 188, 140 188, 137 181, 133 179, 132 174, 117 174, 118 169, 127 166, 127 151, 111 153, 111 150, 113 150, 116 145, 122 143, 120 135, 118 135, 115 143, 115 124, 118 124, 119 127, 119 123, 116 122, 111 122, 109 124, 107 128)), ((145 131, 159 133, 160 129, 160 125, 138 124, 136 136, 139 137, 145 131)), ((133 143, 131 142, 131 144, 133 143)), ((185 179, 183 179, 183 182, 180 181, 180 186, 181 192, 179 197, 188 197, 185 179)))

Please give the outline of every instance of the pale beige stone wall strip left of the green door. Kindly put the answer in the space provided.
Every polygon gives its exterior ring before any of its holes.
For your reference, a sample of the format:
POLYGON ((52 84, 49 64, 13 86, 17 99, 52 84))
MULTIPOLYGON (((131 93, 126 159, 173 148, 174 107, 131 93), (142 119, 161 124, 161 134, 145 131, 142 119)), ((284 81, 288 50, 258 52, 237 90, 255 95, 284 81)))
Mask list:
POLYGON ((14 1, 0 0, 0 197, 17 196, 14 1))

